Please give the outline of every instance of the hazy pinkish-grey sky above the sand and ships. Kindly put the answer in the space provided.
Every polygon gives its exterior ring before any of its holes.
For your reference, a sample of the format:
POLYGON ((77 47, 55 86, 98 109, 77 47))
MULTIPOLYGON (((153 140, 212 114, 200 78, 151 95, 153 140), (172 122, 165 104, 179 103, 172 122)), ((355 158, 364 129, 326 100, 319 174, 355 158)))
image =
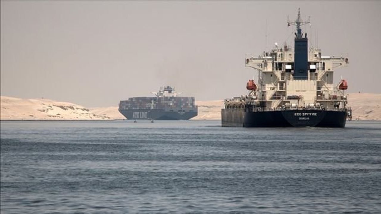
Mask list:
POLYGON ((1 1, 1 95, 86 107, 117 105, 173 85, 196 100, 247 93, 245 53, 293 45, 287 15, 336 69, 349 93, 381 93, 381 2, 1 1), (317 40, 316 40, 317 35, 317 40))

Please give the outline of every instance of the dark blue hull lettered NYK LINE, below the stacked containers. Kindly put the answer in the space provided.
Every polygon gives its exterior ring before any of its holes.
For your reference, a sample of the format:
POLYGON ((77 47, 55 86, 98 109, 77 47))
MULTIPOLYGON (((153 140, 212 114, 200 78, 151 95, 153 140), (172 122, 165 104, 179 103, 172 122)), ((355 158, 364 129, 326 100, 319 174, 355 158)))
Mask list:
POLYGON ((189 120, 197 116, 191 111, 166 111, 159 109, 119 110, 128 120, 189 120))

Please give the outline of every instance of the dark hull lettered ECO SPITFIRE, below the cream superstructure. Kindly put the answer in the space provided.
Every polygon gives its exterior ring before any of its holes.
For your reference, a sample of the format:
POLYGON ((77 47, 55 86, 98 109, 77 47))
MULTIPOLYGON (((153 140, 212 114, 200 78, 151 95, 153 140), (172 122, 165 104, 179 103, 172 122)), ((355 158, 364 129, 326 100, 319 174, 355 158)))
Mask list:
POLYGON ((231 127, 335 127, 344 128, 347 111, 274 110, 245 112, 244 109, 222 109, 222 126, 231 127))

